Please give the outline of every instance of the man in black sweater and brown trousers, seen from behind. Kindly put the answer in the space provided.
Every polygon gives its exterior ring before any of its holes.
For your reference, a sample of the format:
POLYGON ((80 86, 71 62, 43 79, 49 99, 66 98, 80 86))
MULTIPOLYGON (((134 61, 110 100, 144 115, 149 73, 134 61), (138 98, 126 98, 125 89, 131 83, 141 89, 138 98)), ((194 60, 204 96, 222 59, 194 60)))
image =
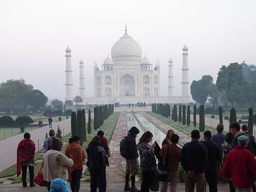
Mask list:
POLYGON ((191 132, 192 141, 183 145, 180 153, 180 163, 185 170, 185 190, 194 192, 195 183, 197 192, 205 192, 205 166, 207 163, 207 148, 199 142, 200 132, 191 132))

